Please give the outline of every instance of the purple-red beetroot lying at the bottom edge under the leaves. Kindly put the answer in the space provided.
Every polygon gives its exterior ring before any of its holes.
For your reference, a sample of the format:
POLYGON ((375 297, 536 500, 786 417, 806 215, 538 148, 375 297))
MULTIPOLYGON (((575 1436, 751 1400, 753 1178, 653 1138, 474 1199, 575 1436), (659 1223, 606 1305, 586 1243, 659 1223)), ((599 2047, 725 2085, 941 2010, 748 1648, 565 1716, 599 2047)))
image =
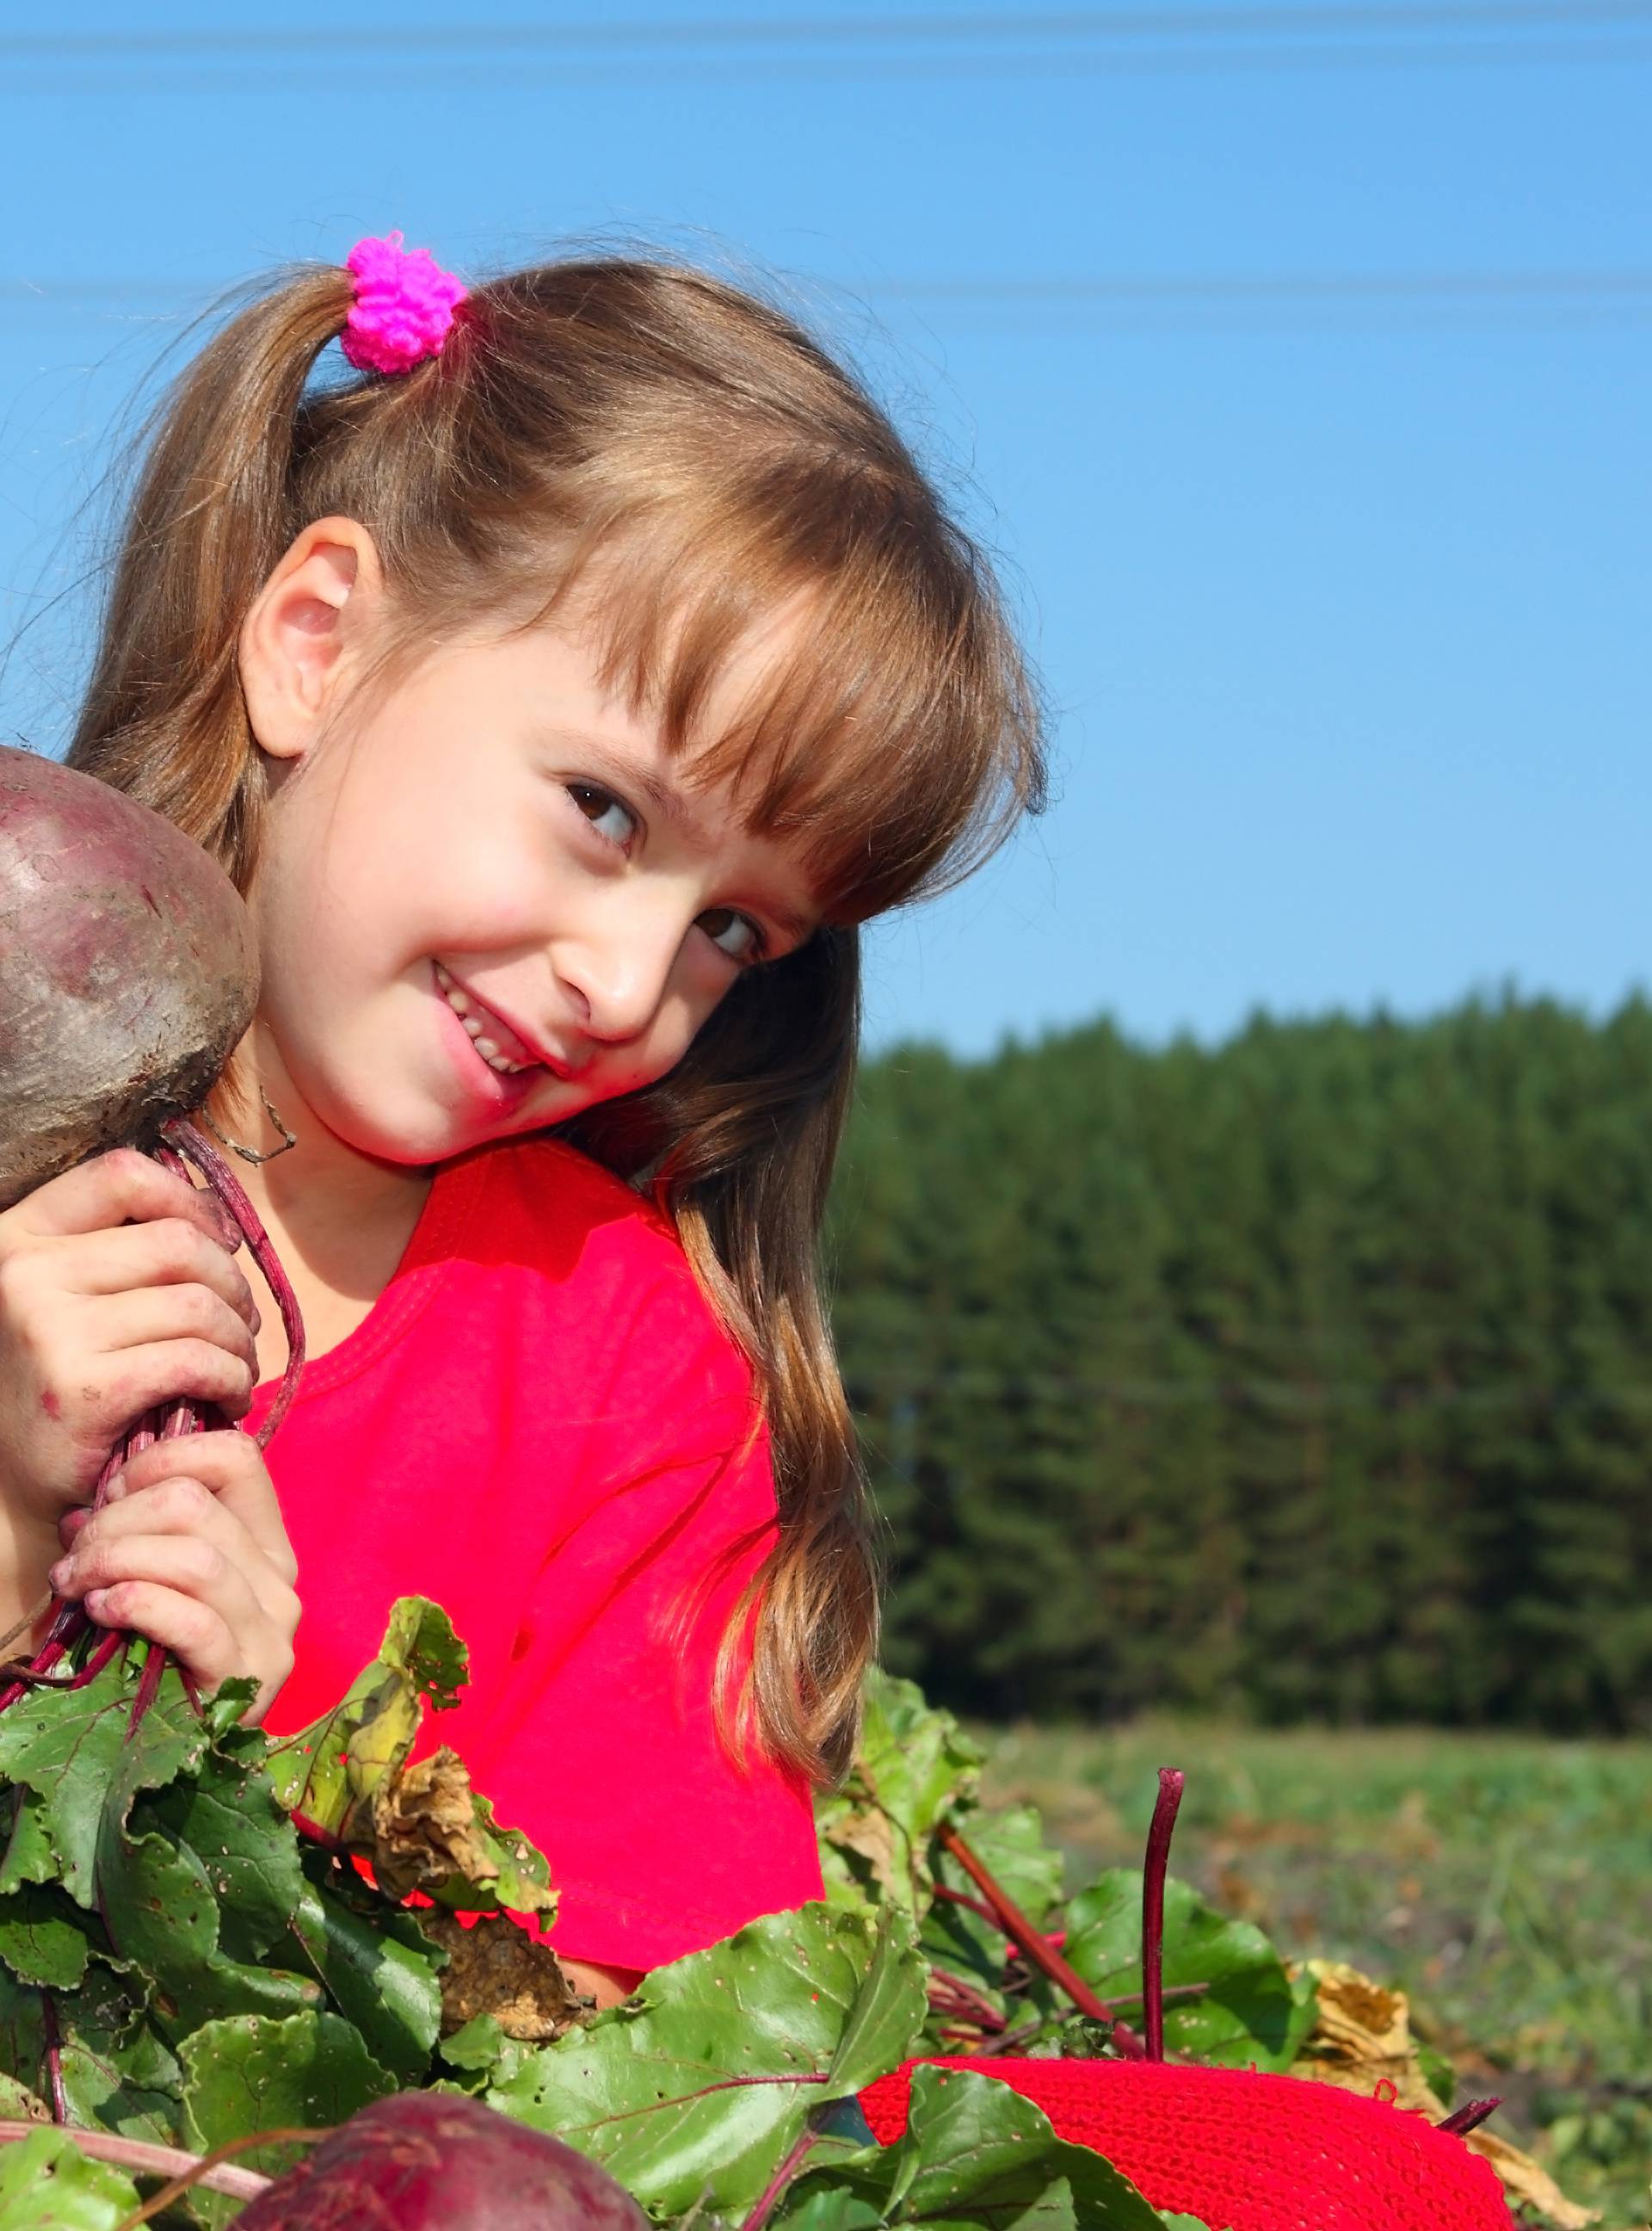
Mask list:
POLYGON ((236 2215, 236 2231, 647 2231, 606 2169, 453 2093, 375 2099, 236 2215))

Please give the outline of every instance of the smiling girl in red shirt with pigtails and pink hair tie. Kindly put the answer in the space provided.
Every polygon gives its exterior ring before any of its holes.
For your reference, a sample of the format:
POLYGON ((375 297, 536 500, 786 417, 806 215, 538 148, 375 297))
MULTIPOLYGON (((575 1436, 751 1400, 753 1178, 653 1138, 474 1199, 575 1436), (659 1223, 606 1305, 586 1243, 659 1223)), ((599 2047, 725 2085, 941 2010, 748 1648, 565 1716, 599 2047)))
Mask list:
POLYGON ((696 270, 270 286, 156 419, 69 761, 252 908, 203 1111, 308 1325, 107 1153, 0 1216, 4 1604, 85 1600, 305 1725, 424 1593, 433 1740, 609 2003, 818 1896, 876 1644, 816 1283, 856 924, 1034 805, 981 553, 863 388, 696 270), (343 339, 350 368, 317 377, 343 339), (174 1397, 109 1506, 109 1443, 174 1397))

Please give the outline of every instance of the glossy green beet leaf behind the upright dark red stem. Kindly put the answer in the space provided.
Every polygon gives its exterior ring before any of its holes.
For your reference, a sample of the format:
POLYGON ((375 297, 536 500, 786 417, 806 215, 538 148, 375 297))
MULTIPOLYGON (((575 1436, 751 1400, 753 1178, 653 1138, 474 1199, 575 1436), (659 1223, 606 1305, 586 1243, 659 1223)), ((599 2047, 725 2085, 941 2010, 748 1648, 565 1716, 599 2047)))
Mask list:
MULTIPOLYGON (((1104 1997, 1141 1990, 1141 1876, 1112 1867, 1068 1905, 1066 1954, 1104 1997)), ((1164 1885, 1164 1983, 1204 1983, 1197 1999, 1168 1999, 1166 2053, 1219 2068, 1284 2070, 1313 2028, 1311 1990, 1293 1990, 1262 1930, 1215 1912, 1175 1876, 1164 1885)))

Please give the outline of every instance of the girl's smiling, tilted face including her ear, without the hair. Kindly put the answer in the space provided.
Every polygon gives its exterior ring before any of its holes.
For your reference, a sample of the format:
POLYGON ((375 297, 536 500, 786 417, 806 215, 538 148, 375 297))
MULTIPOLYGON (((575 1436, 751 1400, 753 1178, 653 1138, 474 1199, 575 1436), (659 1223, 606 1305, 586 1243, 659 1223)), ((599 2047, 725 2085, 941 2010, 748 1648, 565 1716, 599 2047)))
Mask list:
MULTIPOLYGON (((437 647, 352 696, 381 596, 363 531, 319 522, 243 631, 274 776, 259 1022, 341 1145, 428 1165, 651 1084, 816 917, 798 859, 571 631, 437 647)), ((751 638, 707 734, 783 645, 751 638)))

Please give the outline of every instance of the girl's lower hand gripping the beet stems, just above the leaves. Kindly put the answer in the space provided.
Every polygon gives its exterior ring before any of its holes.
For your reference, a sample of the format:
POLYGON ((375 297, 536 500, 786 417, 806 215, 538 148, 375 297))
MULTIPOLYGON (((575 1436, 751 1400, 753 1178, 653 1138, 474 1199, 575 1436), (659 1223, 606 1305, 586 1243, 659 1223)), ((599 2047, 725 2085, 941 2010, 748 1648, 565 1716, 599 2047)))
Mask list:
POLYGON ((252 1675, 245 1718, 265 1716, 292 1671, 299 1564, 250 1435, 154 1441, 109 1481, 103 1510, 69 1510, 58 1533, 58 1595, 98 1626, 161 1642, 203 1689, 252 1675))

